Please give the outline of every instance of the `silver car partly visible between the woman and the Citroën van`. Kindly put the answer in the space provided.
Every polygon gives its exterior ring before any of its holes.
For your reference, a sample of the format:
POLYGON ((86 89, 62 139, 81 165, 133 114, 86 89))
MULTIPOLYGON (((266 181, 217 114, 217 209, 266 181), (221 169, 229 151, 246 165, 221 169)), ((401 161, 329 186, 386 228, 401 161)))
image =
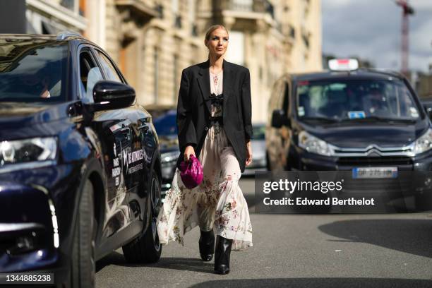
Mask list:
POLYGON ((265 148, 265 124, 253 124, 252 163, 246 167, 244 176, 255 175, 256 171, 267 170, 267 150, 265 148))

